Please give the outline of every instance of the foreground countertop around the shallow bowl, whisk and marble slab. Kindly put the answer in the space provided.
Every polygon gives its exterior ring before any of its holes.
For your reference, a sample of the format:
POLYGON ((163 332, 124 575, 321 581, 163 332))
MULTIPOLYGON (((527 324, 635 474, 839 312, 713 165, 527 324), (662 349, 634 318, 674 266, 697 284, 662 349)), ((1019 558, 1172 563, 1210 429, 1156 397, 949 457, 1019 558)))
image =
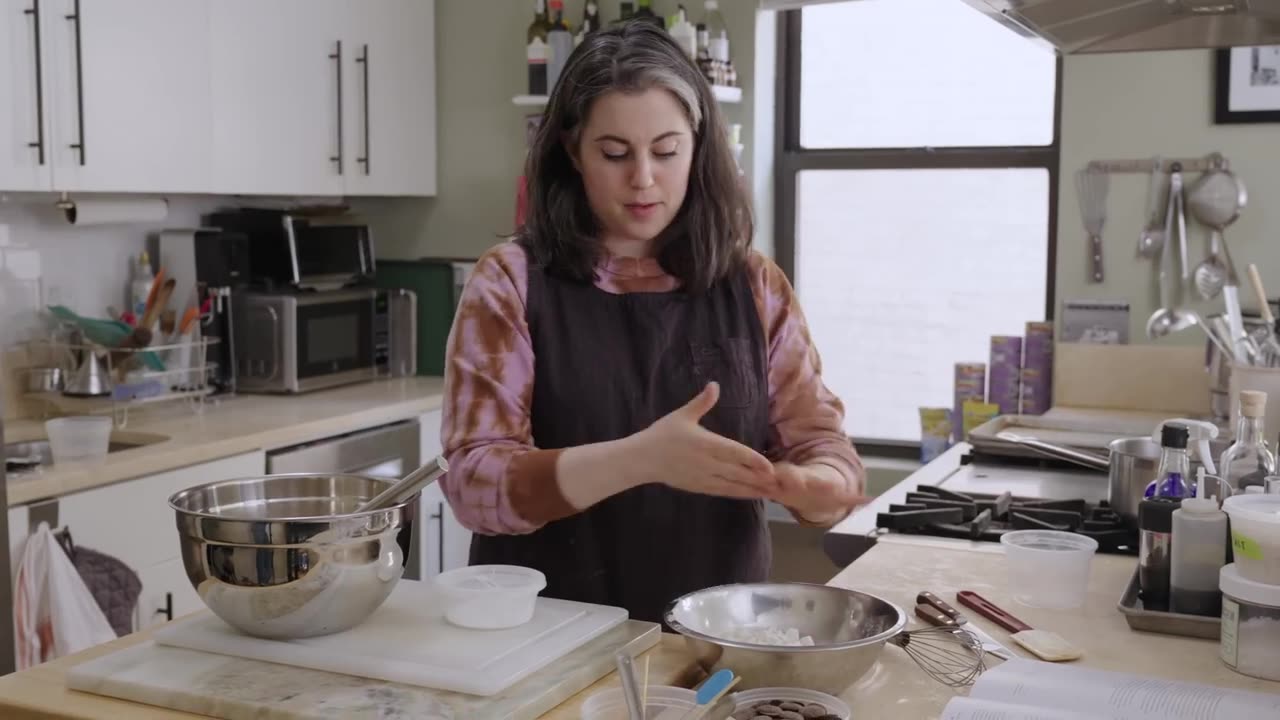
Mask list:
MULTIPOLYGON (((989 544, 989 543, 988 543, 989 544)), ((1032 626, 1052 630, 1084 651, 1079 665, 1102 670, 1121 670, 1166 678, 1211 683, 1215 685, 1280 693, 1280 683, 1239 675, 1219 660, 1215 641, 1174 635, 1137 633, 1129 629, 1116 602, 1134 568, 1128 556, 1094 557, 1088 598, 1076 610, 1037 610, 1015 603, 1006 587, 1002 555, 969 547, 940 547, 904 542, 886 537, 869 548, 854 565, 836 575, 829 584, 881 596, 902 609, 914 606, 915 594, 929 589, 948 602, 960 589, 977 591, 1005 607, 1032 626), (1169 661, 1169 659, 1176 659, 1169 661)), ((961 607, 961 610, 964 610, 961 607)), ((968 614, 1015 653, 1009 633, 995 624, 968 614)), ((913 619, 913 626, 918 623, 913 619)), ((64 657, 32 670, 0 678, 0 717, 55 717, 87 720, 97 717, 137 717, 140 720, 187 719, 193 715, 165 711, 65 689, 67 669, 105 652, 147 639, 140 633, 64 657)), ((680 638, 666 635, 650 651, 650 682, 689 684, 696 678, 691 660, 680 638)), ((991 657, 992 665, 1001 662, 991 657)), ((544 720, 576 720, 581 703, 600 689, 616 687, 609 675, 579 693, 544 720)), ((852 707, 854 717, 895 717, 899 720, 934 720, 946 702, 965 691, 947 688, 928 678, 906 653, 886 646, 879 662, 861 680, 842 693, 852 707)))

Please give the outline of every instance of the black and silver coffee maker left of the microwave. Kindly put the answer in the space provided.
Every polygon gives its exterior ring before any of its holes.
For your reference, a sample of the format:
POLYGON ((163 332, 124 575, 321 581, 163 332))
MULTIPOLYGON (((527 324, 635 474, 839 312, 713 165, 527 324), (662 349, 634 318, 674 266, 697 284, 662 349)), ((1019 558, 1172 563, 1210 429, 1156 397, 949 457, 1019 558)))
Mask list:
POLYGON ((206 355, 214 392, 236 392, 232 302, 234 292, 250 283, 248 237, 219 228, 184 228, 161 231, 157 241, 160 266, 175 281, 173 297, 195 297, 201 333, 218 338, 206 355))

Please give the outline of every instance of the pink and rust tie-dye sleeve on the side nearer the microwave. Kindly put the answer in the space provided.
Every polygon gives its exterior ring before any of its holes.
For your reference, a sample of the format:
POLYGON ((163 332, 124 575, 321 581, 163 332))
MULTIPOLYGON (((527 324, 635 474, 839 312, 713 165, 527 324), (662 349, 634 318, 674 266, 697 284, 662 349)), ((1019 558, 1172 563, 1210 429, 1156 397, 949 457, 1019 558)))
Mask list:
POLYGON ((480 534, 524 534, 570 515, 558 450, 534 447, 534 348, 525 320, 526 260, 504 242, 476 263, 445 345, 440 478, 458 521, 480 534))

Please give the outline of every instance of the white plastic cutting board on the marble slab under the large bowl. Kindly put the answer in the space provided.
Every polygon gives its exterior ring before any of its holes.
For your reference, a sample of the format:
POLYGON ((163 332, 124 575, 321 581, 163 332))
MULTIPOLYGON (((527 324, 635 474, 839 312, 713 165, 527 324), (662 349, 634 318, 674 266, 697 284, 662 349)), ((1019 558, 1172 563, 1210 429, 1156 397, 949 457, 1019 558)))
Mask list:
POLYGON ((430 582, 401 580, 369 620, 344 633, 273 641, 201 614, 170 623, 154 637, 157 644, 492 696, 626 619, 621 607, 539 597, 532 620, 524 625, 471 630, 444 619, 430 582))

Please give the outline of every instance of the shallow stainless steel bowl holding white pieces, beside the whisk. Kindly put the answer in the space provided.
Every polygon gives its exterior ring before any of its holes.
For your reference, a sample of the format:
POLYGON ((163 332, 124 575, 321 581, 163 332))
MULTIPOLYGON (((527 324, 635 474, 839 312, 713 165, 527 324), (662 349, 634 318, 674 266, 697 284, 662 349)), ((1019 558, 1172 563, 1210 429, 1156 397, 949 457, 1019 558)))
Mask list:
POLYGON ((748 583, 677 598, 667 625, 703 670, 731 669, 739 688, 795 687, 840 694, 870 670, 884 643, 906 626, 892 602, 858 591, 806 583, 748 583), (813 646, 728 639, 731 628, 795 628, 813 646))

